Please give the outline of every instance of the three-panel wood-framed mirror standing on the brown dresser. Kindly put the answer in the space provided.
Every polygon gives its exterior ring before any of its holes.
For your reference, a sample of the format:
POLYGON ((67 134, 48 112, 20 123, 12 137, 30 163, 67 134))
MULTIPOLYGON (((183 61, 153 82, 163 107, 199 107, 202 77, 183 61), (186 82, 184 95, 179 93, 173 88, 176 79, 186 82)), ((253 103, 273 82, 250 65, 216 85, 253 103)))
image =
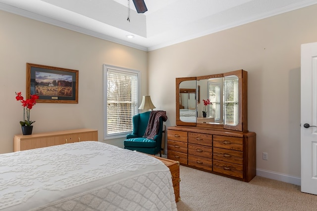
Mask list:
POLYGON ((247 131, 247 72, 176 78, 176 125, 247 131))

